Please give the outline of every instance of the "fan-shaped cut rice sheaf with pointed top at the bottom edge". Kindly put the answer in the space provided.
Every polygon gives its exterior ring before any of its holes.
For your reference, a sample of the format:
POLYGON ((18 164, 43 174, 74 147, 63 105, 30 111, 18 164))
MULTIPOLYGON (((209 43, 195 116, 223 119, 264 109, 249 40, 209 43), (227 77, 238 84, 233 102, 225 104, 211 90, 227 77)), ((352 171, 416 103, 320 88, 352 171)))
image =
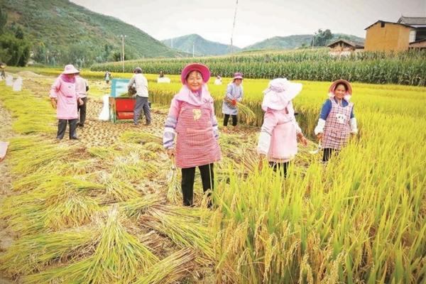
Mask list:
POLYGON ((147 272, 158 261, 144 244, 126 231, 114 207, 102 226, 92 256, 69 266, 28 275, 24 283, 127 284, 133 283, 138 274, 147 272))

